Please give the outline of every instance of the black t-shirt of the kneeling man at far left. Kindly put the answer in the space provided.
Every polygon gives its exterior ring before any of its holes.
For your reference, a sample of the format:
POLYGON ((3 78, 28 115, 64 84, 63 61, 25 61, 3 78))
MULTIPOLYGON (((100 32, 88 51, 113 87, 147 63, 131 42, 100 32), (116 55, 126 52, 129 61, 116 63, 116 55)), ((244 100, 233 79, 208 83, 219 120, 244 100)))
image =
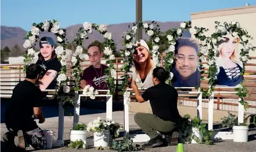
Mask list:
POLYGON ((24 80, 15 86, 9 106, 5 111, 5 124, 12 129, 34 129, 33 107, 40 107, 45 94, 30 81, 24 80))

